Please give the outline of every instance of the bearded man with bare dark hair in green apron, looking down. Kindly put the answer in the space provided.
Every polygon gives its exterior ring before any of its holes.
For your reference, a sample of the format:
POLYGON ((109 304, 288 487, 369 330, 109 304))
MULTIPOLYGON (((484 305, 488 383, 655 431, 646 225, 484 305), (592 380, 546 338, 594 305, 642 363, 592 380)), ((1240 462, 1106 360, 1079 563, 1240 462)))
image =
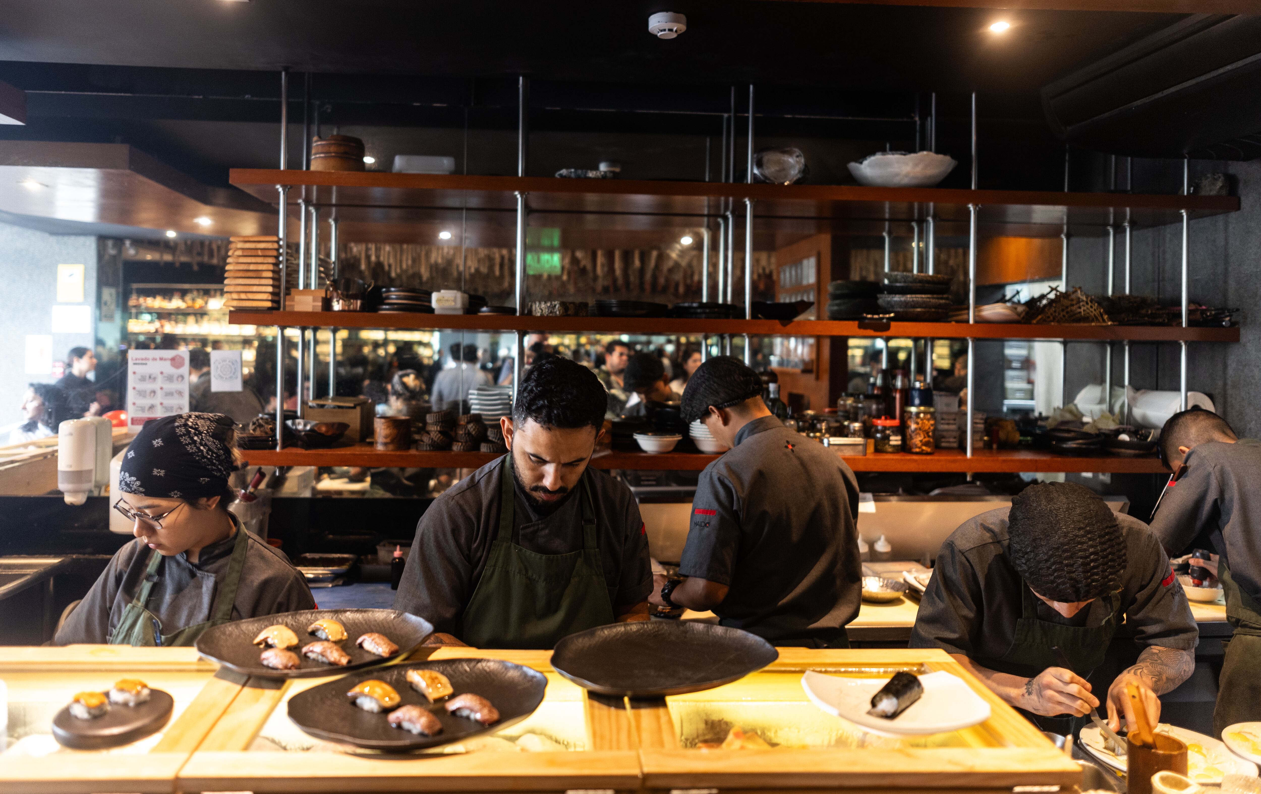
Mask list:
POLYGON ((590 369, 549 358, 522 377, 508 454, 425 510, 395 607, 441 642, 551 648, 575 631, 647 620, 652 570, 630 490, 589 468, 607 392, 590 369))

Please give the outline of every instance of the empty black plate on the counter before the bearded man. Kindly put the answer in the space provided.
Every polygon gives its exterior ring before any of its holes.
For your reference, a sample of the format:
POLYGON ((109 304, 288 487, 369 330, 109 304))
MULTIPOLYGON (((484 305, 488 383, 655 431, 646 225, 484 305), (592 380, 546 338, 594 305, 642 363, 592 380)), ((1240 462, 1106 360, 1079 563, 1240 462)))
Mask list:
POLYGON ((779 658, 757 634, 692 620, 614 623, 556 643, 552 668, 600 694, 665 697, 712 689, 779 658))

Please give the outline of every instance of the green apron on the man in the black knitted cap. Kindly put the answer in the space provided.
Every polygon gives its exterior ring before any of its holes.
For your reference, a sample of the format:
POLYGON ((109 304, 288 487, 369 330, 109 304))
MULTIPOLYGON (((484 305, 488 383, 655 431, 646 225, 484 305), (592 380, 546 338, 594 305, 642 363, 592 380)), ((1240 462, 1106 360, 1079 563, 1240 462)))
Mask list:
MULTIPOLYGON (((1048 667, 1067 667, 1082 678, 1090 678, 1091 672, 1103 663, 1108 643, 1116 634, 1117 615, 1121 613, 1120 591, 1107 596, 1108 616, 1097 626, 1067 626, 1038 618, 1038 599, 1029 585, 1020 581, 1020 620, 1016 621, 1015 639, 1011 648, 999 659, 996 665, 980 662, 984 667, 1033 678, 1048 667)), ((1090 609, 1090 607, 1087 607, 1090 609)), ((1105 692, 1106 696, 1106 692, 1105 692)), ((1100 697, 1102 703, 1106 697, 1100 697)), ((1079 727, 1078 721, 1086 717, 1045 717, 1018 708, 1030 722, 1044 731, 1069 736, 1079 727)), ((1101 712, 1103 713, 1103 712, 1101 712)))

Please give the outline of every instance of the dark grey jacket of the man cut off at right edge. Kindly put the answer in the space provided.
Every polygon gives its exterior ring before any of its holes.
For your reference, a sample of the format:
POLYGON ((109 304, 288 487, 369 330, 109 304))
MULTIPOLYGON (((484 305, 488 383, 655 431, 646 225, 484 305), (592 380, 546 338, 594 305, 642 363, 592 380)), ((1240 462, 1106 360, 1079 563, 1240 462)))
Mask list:
POLYGON ((1261 602, 1261 441, 1209 441, 1187 452, 1185 474, 1165 490, 1151 532, 1173 553, 1208 531, 1231 578, 1261 602))

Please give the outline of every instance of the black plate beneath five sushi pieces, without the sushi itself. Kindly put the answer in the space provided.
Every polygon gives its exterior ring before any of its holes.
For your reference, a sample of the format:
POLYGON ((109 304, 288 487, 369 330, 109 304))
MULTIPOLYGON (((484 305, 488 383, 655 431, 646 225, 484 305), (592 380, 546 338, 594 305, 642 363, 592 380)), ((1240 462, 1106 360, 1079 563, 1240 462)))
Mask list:
POLYGON ((262 618, 236 620, 211 626, 204 634, 197 638, 197 653, 246 676, 259 676, 260 678, 318 678, 320 676, 340 676, 348 670, 377 667, 390 659, 407 655, 412 650, 416 650, 425 642, 425 638, 433 633, 434 626, 424 618, 392 609, 309 609, 300 613, 264 615, 262 618), (338 644, 342 647, 342 650, 351 655, 348 665, 320 664, 301 655, 303 645, 314 643, 318 639, 306 634, 306 626, 322 618, 332 618, 346 626, 347 638, 338 644), (253 644, 253 638, 259 636, 259 631, 276 624, 289 626, 298 635, 298 648, 290 648, 301 659, 298 669, 274 670, 259 662, 262 649, 253 644), (354 640, 359 639, 361 634, 368 631, 388 636, 398 645, 398 653, 382 659, 356 647, 354 640))

